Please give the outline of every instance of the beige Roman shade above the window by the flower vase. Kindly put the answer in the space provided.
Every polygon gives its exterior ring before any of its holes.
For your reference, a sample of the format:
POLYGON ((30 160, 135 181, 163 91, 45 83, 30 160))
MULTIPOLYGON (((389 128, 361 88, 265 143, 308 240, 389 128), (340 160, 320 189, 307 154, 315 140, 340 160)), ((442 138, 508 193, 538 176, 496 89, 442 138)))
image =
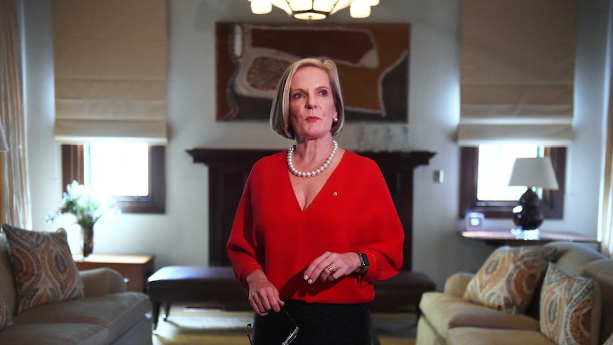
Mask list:
POLYGON ((166 144, 164 0, 54 0, 55 139, 166 144))

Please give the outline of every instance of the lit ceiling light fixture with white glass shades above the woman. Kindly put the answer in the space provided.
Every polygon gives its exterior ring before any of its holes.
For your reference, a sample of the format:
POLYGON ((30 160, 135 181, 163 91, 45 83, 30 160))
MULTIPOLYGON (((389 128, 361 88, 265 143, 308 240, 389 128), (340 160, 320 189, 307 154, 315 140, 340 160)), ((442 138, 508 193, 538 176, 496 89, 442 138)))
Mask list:
POLYGON ((249 0, 254 14, 269 14, 272 6, 287 12, 303 21, 319 21, 328 18, 341 9, 349 7, 351 18, 371 16, 371 7, 377 6, 379 0, 249 0))

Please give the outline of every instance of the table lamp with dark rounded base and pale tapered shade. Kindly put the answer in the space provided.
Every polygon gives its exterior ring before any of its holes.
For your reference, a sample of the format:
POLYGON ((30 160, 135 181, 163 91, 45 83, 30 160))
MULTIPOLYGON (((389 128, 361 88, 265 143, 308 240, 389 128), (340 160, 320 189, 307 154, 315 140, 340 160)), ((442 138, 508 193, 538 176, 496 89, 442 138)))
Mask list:
POLYGON ((540 213, 540 199, 534 189, 558 190, 551 159, 548 156, 516 159, 508 185, 527 187, 526 193, 519 198, 519 205, 513 208, 513 223, 524 237, 530 235, 538 238, 538 227, 544 217, 540 213))

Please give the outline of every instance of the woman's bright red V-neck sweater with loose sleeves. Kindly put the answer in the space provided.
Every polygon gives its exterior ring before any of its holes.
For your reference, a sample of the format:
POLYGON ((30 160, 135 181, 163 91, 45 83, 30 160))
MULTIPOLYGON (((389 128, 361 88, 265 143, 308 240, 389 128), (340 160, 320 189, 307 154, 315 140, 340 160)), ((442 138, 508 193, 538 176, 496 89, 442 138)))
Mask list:
POLYGON ((371 302, 371 282, 403 265, 404 230, 377 164, 346 151, 304 212, 289 180, 286 152, 253 166, 228 240, 236 277, 263 270, 283 300, 353 304, 371 302), (304 270, 324 252, 362 251, 371 267, 363 277, 309 285, 304 270))

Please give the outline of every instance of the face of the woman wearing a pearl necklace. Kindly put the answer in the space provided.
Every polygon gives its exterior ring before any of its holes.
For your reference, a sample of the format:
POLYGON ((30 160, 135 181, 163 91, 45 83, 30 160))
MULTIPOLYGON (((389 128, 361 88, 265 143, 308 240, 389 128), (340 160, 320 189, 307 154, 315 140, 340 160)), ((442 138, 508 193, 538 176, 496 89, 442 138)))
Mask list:
POLYGON ((314 66, 299 68, 289 85, 289 121, 296 139, 331 136, 337 116, 328 73, 314 66))

